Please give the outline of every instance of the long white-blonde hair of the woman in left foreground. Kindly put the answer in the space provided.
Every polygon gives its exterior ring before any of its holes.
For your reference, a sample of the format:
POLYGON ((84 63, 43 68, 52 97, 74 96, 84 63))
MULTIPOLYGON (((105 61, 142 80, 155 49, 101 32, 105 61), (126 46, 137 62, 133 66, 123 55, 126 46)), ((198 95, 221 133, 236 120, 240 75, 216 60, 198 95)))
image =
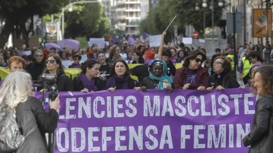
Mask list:
POLYGON ((25 71, 12 72, 4 79, 0 87, 0 105, 13 109, 19 103, 25 102, 28 96, 34 96, 32 89, 30 74, 25 71))

